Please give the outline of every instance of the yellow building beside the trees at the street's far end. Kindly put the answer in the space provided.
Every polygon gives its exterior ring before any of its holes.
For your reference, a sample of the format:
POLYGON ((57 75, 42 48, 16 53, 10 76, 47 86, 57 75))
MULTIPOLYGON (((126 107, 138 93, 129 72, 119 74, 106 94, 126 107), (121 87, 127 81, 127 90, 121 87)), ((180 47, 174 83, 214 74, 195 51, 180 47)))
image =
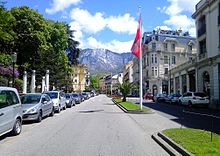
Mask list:
POLYGON ((85 90, 86 79, 88 77, 86 65, 79 64, 77 66, 73 66, 72 69, 72 89, 75 92, 83 92, 85 90))

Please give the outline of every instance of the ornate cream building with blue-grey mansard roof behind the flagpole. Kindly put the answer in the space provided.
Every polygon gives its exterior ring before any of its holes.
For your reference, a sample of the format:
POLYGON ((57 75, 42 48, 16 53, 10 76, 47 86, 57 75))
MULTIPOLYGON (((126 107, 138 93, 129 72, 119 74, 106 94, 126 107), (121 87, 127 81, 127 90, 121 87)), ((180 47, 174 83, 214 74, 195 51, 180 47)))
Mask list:
POLYGON ((157 30, 143 35, 143 92, 174 92, 170 70, 196 56, 196 39, 187 32, 157 30))

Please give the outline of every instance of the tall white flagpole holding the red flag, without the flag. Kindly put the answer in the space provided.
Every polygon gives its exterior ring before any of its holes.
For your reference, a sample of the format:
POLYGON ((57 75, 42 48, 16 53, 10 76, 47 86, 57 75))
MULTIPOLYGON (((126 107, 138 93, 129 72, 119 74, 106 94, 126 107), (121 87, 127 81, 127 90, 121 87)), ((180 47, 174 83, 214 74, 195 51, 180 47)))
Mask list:
MULTIPOLYGON (((139 7, 139 16, 141 17, 141 7, 139 7)), ((139 68, 139 72, 140 72, 140 84, 139 84, 139 92, 140 92, 140 106, 141 106, 141 110, 143 108, 143 86, 142 86, 142 47, 141 47, 141 42, 142 42, 142 20, 140 20, 140 59, 139 59, 139 63, 140 63, 140 68, 139 68)))

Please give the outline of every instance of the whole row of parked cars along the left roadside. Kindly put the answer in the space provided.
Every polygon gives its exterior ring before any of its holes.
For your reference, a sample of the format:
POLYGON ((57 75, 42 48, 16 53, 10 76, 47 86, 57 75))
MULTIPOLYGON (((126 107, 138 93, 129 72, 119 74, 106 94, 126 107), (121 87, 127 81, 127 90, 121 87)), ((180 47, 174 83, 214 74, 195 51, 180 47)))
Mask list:
POLYGON ((0 87, 0 136, 8 132, 18 135, 21 133, 22 121, 41 122, 43 117, 54 116, 55 112, 71 108, 89 99, 92 94, 47 91, 19 96, 15 88, 0 87))

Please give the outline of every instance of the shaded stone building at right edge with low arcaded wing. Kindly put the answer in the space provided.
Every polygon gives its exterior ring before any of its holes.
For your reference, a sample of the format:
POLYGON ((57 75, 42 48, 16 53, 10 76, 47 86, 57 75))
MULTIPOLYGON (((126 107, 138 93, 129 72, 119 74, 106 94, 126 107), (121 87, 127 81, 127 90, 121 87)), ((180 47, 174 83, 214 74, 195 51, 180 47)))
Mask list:
POLYGON ((181 88, 184 84, 181 79, 185 75, 186 90, 207 93, 210 107, 219 109, 220 1, 201 0, 192 17, 196 21, 198 54, 191 63, 182 64, 171 71, 172 77, 177 80, 174 88, 181 88))

